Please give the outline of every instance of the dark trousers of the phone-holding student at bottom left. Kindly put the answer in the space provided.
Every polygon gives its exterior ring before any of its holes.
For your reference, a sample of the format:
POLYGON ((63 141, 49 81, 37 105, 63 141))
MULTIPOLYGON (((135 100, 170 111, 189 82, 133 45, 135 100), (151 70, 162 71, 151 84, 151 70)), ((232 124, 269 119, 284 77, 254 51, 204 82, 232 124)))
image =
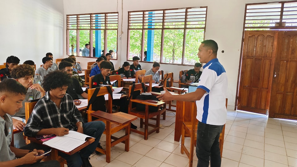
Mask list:
MULTIPOLYGON (((34 148, 37 148, 38 145, 37 144, 27 144, 24 147, 21 147, 20 149, 24 149, 24 150, 31 150, 34 148)), ((39 150, 39 148, 37 148, 39 150)), ((48 149, 45 148, 44 151, 47 151, 48 149)), ((60 163, 58 161, 52 160, 52 161, 45 161, 45 162, 36 162, 34 164, 29 164, 29 165, 19 165, 18 167, 39 167, 39 166, 43 166, 43 167, 59 167, 60 163)))

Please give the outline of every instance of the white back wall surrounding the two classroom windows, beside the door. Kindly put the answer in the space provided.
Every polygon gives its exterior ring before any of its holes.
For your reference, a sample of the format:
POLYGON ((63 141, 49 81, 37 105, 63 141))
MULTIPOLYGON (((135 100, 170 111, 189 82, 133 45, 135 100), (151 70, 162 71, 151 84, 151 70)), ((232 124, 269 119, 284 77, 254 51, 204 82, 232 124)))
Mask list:
MULTIPOLYGON (((119 12, 119 35, 121 32, 122 7, 121 0, 64 0, 64 18, 67 14, 100 13, 100 12, 119 12), (75 5, 80 3, 78 7, 75 5)), ((127 17, 128 11, 134 10, 155 10, 183 7, 208 6, 205 39, 213 39, 218 43, 218 59, 225 67, 228 75, 228 108, 234 109, 237 77, 239 70, 240 49, 242 43, 243 19, 246 3, 274 2, 274 0, 124 0, 123 1, 123 35, 122 40, 118 40, 118 61, 113 61, 115 68, 122 65, 127 60, 127 17), (224 50, 224 53, 221 51, 224 50)), ((64 33, 66 33, 66 20, 64 21, 64 33)), ((64 35, 65 36, 65 35, 64 35)), ((66 37, 66 36, 65 36, 66 37)), ((66 38, 64 37, 64 44, 66 38)), ((197 46, 198 48, 198 46, 197 46)), ((63 48, 66 55, 66 45, 63 48)), ((197 51, 198 52, 198 51, 197 51)), ((88 61, 95 61, 92 58, 76 58, 87 66, 88 61)), ((143 69, 150 69, 151 63, 141 62, 143 69)), ((174 80, 178 80, 179 71, 191 69, 189 66, 163 65, 165 73, 174 72, 174 80)))

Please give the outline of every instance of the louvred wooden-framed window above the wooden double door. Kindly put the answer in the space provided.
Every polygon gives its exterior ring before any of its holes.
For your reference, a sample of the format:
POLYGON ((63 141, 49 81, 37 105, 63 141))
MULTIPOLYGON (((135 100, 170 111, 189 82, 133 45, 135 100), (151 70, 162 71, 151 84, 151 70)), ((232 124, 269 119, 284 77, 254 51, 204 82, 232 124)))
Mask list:
POLYGON ((246 4, 243 28, 297 29, 297 1, 246 4))

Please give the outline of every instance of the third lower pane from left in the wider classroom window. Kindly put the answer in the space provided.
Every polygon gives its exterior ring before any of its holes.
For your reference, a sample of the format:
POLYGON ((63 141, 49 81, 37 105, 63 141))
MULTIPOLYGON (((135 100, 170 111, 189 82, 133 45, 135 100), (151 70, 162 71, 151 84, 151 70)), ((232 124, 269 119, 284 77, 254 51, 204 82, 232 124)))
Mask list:
POLYGON ((183 30, 164 30, 162 63, 182 63, 183 30))

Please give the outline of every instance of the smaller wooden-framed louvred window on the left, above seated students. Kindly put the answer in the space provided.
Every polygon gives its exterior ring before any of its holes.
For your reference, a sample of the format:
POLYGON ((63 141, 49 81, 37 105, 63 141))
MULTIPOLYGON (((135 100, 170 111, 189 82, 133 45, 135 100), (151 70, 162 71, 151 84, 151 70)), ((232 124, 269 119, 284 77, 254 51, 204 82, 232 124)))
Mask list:
POLYGON ((118 59, 118 12, 67 15, 66 31, 67 55, 118 59))

